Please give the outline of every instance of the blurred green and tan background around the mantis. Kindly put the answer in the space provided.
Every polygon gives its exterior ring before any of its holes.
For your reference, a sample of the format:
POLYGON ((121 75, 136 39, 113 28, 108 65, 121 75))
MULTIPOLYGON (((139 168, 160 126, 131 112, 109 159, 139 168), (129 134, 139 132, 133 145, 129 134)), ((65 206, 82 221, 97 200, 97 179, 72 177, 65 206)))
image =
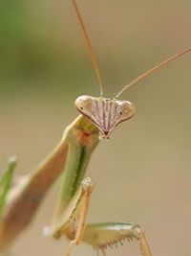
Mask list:
MULTIPOLYGON (((78 0, 96 51, 105 96, 191 45, 191 2, 78 0)), ((96 182, 88 221, 136 221, 154 256, 191 250, 191 55, 126 91, 135 117, 101 141, 89 166, 96 182)), ((97 96, 92 63, 70 0, 0 1, 0 170, 11 154, 28 174, 62 136, 78 95, 97 96)), ((15 256, 64 255, 67 242, 45 239, 55 184, 15 256)), ((74 255, 96 255, 82 244, 74 255)), ((125 244, 108 255, 139 255, 125 244)))

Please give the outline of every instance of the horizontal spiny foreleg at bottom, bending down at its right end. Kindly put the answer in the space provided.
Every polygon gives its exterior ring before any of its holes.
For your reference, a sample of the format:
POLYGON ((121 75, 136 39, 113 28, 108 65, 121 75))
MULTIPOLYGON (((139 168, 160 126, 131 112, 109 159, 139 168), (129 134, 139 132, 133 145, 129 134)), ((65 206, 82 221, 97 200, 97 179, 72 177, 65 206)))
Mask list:
POLYGON ((105 222, 87 224, 83 242, 91 244, 106 255, 105 250, 113 245, 123 244, 124 241, 137 240, 143 256, 152 256, 144 232, 137 223, 105 222))

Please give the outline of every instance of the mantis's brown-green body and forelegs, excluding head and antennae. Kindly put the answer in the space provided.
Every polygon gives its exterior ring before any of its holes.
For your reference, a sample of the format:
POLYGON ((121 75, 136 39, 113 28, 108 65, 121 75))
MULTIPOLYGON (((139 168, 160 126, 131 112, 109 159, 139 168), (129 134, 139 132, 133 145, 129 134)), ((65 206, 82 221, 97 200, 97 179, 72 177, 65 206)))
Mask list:
POLYGON ((105 253, 107 246, 122 240, 138 240, 143 256, 151 256, 144 233, 138 224, 107 222, 87 224, 86 217, 94 184, 84 179, 92 152, 98 143, 97 128, 79 116, 64 133, 53 152, 11 189, 6 211, 0 223, 0 245, 7 247, 32 220, 42 198, 64 169, 62 186, 56 203, 51 234, 71 240, 67 255, 81 241, 105 253))

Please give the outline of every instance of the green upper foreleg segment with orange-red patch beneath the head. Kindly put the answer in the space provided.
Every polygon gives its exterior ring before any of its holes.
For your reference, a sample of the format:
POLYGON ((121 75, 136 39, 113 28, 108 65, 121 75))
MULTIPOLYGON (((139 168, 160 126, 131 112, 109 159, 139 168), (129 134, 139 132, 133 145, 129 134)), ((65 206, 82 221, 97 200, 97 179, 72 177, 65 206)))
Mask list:
POLYGON ((92 152, 99 141, 99 131, 87 118, 80 115, 66 129, 65 139, 68 141, 69 151, 53 220, 58 220, 63 214, 83 179, 92 152))

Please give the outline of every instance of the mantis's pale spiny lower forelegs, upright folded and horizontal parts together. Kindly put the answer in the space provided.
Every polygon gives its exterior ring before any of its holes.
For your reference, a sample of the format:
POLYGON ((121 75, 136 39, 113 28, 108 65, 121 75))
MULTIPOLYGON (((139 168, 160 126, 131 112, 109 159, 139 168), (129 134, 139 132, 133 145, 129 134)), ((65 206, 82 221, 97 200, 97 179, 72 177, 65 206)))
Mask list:
POLYGON ((105 250, 123 241, 137 240, 143 256, 152 256, 144 232, 134 222, 105 222, 85 225, 90 196, 94 183, 90 177, 83 179, 74 197, 70 200, 62 217, 53 222, 49 235, 59 239, 62 235, 71 241, 66 256, 71 255, 74 245, 82 242, 91 244, 103 255, 105 250))

